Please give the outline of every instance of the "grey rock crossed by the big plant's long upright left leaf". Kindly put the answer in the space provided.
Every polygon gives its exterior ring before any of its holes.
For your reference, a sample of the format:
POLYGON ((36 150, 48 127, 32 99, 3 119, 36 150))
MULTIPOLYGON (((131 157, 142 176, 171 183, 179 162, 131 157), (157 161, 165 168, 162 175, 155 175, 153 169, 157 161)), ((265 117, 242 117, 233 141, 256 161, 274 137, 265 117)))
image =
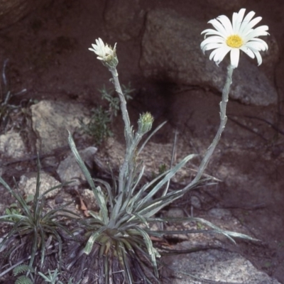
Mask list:
MULTIPOLYGON (((89 168, 92 168, 94 154, 96 152, 96 147, 88 147, 82 151, 79 151, 82 160, 84 160, 84 163, 86 163, 89 168)), ((80 166, 77 164, 73 153, 70 153, 70 155, 68 155, 65 160, 62 160, 62 162, 60 162, 56 171, 60 177, 61 182, 70 182, 71 180, 74 180, 71 185, 80 185, 82 180, 86 180, 80 166)))

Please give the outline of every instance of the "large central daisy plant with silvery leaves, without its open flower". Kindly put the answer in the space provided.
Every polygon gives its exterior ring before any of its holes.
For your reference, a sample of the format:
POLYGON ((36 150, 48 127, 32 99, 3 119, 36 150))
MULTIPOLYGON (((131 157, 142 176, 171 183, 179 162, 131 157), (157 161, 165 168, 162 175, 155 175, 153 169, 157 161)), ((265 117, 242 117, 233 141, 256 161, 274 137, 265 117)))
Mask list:
MULTIPOLYGON (((92 45, 94 53, 111 72, 111 82, 114 83, 116 93, 119 96, 121 114, 124 120, 124 135, 126 139, 126 153, 119 169, 119 177, 114 178, 113 185, 104 180, 92 179, 87 167, 84 165, 80 154, 77 151, 72 136, 69 133, 70 148, 75 155, 77 163, 80 165, 89 186, 94 193, 99 204, 99 212, 89 211, 92 216, 84 220, 88 229, 88 241, 83 252, 97 260, 97 271, 101 271, 98 276, 100 283, 160 283, 158 276, 157 258, 160 253, 153 246, 151 236, 163 236, 165 234, 192 234, 200 230, 185 231, 152 231, 153 222, 184 222, 194 221, 198 224, 204 224, 207 233, 219 233, 227 236, 231 241, 234 237, 252 239, 244 234, 233 231, 225 231, 214 226, 201 218, 159 218, 155 217, 161 209, 168 206, 175 200, 185 195, 200 183, 209 180, 202 178, 204 169, 207 166, 209 158, 216 147, 221 133, 226 124, 226 97, 229 94, 229 85, 231 84, 231 73, 229 73, 226 85, 224 87, 221 109, 221 124, 219 131, 204 155, 200 168, 195 178, 181 190, 170 192, 168 183, 175 173, 182 168, 189 160, 195 158, 195 155, 187 155, 170 170, 163 168, 163 173, 154 178, 151 182, 141 185, 141 178, 144 172, 142 163, 138 163, 138 155, 143 150, 148 140, 153 134, 163 126, 155 129, 146 141, 139 146, 141 138, 151 130, 153 116, 146 113, 138 119, 138 130, 134 131, 131 126, 128 111, 126 108, 126 99, 122 91, 116 65, 116 49, 104 45, 102 40, 96 40, 97 45, 92 45), (155 194, 162 191, 160 197, 155 198, 155 194), (149 269, 150 268, 150 269, 149 269)), ((204 231, 204 230, 202 230, 204 231)), ((91 280, 91 278, 89 278, 91 280)))

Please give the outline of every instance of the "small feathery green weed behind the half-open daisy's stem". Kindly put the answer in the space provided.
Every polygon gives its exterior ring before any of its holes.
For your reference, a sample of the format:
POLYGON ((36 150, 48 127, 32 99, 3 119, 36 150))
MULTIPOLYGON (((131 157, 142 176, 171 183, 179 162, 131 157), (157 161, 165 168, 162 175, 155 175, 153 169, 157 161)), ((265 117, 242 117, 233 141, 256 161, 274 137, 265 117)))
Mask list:
MULTIPOLYGON (((128 86, 123 85, 122 89, 124 90, 126 100, 132 99, 131 93, 134 92, 134 89, 131 89, 131 83, 128 86)), ((113 135, 111 123, 119 111, 119 98, 114 97, 114 89, 107 89, 103 86, 102 89, 99 89, 99 92, 102 94, 102 99, 107 100, 109 106, 99 106, 91 109, 91 117, 88 123, 84 123, 82 119, 80 120, 82 131, 94 138, 98 145, 113 135)))

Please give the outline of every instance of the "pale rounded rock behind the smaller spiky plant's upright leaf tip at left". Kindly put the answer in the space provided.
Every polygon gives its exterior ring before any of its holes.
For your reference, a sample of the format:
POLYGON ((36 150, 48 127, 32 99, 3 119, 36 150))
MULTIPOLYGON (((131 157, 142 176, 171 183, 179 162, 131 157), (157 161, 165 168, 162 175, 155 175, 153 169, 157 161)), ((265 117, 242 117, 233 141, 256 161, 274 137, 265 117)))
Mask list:
MULTIPOLYGON (((58 180, 55 180, 51 175, 47 173, 40 173, 40 195, 43 192, 49 190, 51 187, 55 187, 60 185, 58 180)), ((35 188, 36 188, 36 173, 28 173, 26 175, 22 175, 20 181, 18 182, 18 188, 24 192, 25 195, 35 195, 35 188)), ((61 190, 61 187, 51 190, 48 192, 45 197, 55 197, 58 192, 61 190)))

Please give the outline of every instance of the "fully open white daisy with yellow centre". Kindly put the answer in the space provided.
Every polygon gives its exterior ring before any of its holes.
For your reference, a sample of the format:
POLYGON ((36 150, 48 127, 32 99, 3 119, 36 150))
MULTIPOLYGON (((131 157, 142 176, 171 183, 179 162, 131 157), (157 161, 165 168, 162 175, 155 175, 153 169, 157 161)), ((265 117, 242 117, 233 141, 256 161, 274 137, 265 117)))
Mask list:
POLYGON ((261 21, 261 17, 253 18, 255 13, 251 11, 244 18, 245 11, 246 9, 241 9, 239 13, 233 13, 232 22, 224 15, 214 18, 208 23, 212 23, 216 31, 212 28, 202 31, 202 33, 205 33, 205 39, 200 48, 203 53, 206 50, 214 49, 209 59, 213 59, 217 65, 230 52, 232 67, 238 67, 240 50, 244 51, 250 58, 256 58, 258 65, 261 65, 262 58, 259 51, 268 50, 268 45, 258 36, 269 35, 268 26, 253 28, 261 21), (209 37, 206 38, 208 35, 209 37))

